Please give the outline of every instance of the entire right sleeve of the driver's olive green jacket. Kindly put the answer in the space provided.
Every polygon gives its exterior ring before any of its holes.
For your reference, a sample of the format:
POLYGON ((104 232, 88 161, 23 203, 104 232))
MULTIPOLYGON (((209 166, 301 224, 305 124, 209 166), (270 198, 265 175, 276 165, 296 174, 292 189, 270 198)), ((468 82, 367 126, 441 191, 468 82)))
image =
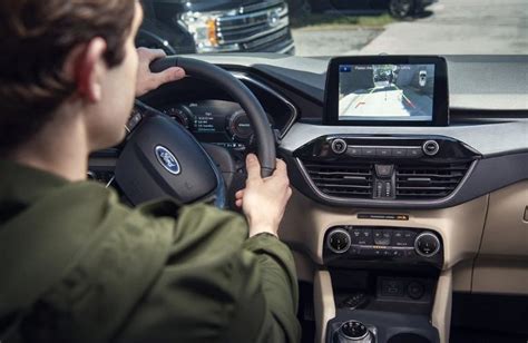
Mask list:
POLYGON ((233 213, 183 207, 167 264, 116 342, 299 342, 293 258, 233 213))

